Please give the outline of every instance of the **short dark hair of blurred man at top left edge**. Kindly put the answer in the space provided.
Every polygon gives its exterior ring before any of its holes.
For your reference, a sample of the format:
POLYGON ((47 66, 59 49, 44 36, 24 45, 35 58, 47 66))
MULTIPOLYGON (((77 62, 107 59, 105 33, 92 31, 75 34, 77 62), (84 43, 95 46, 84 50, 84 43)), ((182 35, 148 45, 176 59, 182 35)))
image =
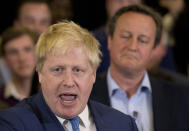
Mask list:
POLYGON ((24 5, 24 4, 26 4, 26 3, 37 3, 37 4, 46 4, 47 6, 48 6, 48 8, 49 8, 49 10, 51 10, 50 9, 50 6, 49 6, 49 2, 47 1, 47 0, 19 0, 18 2, 17 2, 17 8, 16 8, 16 19, 18 19, 19 18, 19 15, 20 15, 20 10, 21 10, 21 8, 22 8, 22 6, 24 5))

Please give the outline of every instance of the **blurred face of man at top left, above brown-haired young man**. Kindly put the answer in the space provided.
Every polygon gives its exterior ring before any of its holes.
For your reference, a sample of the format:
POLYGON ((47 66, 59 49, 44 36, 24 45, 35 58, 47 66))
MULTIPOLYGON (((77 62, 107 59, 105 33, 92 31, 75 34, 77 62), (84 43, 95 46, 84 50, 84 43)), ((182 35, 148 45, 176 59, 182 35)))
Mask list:
POLYGON ((50 10, 43 3, 25 3, 20 9, 15 25, 26 27, 37 34, 43 33, 51 24, 50 10))

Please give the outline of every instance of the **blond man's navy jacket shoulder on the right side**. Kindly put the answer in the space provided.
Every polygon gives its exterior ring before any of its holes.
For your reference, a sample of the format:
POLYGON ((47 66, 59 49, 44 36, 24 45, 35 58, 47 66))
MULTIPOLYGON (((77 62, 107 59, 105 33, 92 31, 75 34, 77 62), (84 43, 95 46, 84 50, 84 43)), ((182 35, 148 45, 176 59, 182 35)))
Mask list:
POLYGON ((118 110, 95 101, 90 101, 89 103, 89 107, 94 118, 97 121, 103 121, 103 123, 109 125, 112 130, 128 129, 128 131, 131 131, 136 129, 134 119, 129 115, 123 114, 118 110))

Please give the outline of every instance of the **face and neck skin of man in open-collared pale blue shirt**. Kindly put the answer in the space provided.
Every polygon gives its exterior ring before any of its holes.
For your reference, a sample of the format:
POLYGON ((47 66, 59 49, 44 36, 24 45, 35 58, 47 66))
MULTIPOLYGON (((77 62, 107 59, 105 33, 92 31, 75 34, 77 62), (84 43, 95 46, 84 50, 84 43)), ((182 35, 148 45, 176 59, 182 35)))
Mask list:
POLYGON ((141 84, 154 49, 155 35, 156 25, 150 16, 128 12, 118 19, 113 37, 108 37, 110 73, 128 98, 141 84))

